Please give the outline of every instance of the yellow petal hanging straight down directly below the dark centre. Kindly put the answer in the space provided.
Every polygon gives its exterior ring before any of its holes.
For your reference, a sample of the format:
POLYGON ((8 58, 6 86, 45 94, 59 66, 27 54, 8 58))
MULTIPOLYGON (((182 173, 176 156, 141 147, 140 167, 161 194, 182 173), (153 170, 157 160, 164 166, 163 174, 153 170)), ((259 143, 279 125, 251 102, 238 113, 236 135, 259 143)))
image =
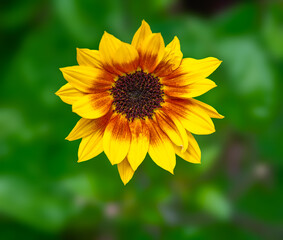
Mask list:
POLYGON ((132 169, 137 170, 144 160, 149 146, 149 131, 147 126, 140 119, 129 123, 132 134, 131 146, 128 152, 128 161, 132 169))

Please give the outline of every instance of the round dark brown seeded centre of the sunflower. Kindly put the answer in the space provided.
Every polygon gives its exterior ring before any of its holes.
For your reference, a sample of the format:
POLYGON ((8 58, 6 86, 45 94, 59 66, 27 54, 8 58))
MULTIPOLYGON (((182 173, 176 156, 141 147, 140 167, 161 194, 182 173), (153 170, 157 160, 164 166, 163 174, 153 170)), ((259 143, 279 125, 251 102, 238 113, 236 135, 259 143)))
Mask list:
POLYGON ((110 92, 114 98, 114 111, 125 114, 130 121, 152 118, 154 110, 161 108, 164 102, 159 78, 143 70, 119 76, 110 92))

